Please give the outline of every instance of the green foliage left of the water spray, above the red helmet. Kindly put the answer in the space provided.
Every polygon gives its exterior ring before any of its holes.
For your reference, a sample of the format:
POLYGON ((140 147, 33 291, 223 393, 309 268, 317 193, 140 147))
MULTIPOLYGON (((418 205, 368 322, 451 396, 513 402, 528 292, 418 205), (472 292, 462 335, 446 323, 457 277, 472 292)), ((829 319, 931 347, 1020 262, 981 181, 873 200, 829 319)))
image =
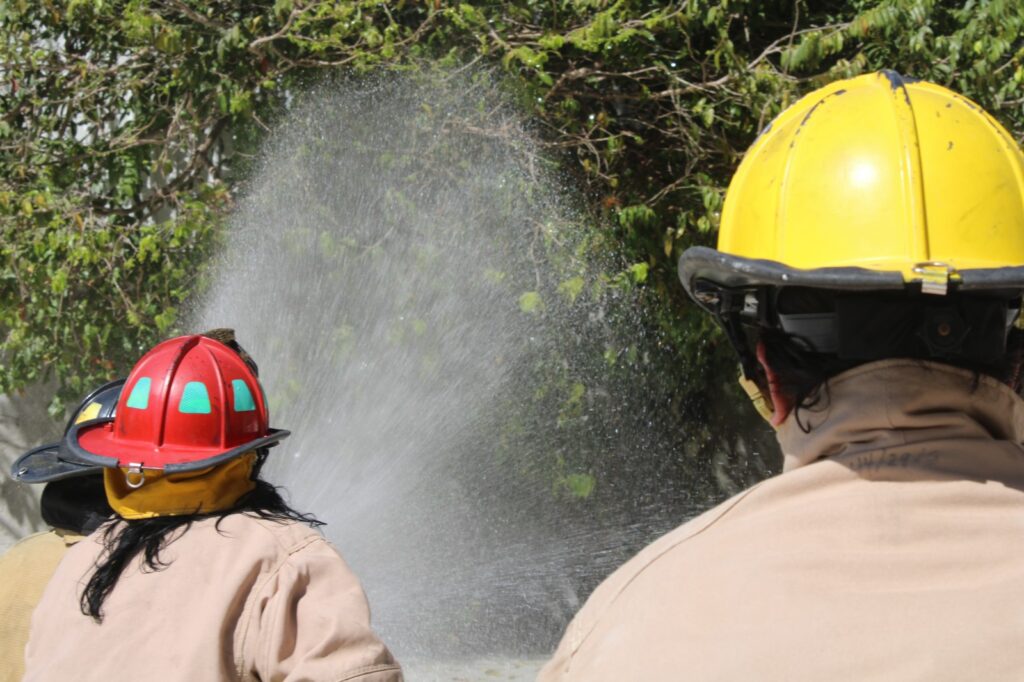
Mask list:
POLYGON ((289 91, 391 58, 406 13, 0 5, 0 392, 55 376, 59 412, 175 331, 289 91))

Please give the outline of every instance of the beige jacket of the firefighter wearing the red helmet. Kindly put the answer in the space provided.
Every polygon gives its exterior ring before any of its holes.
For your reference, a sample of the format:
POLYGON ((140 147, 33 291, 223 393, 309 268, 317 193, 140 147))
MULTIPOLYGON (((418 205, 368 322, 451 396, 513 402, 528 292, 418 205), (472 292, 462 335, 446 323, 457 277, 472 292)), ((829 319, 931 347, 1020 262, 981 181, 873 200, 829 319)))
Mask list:
POLYGON ((102 528, 68 552, 32 620, 27 682, 240 680, 397 682, 358 580, 315 530, 243 514, 195 523, 136 560, 103 604, 79 608, 102 528), (97 652, 101 654, 97 655, 97 652))

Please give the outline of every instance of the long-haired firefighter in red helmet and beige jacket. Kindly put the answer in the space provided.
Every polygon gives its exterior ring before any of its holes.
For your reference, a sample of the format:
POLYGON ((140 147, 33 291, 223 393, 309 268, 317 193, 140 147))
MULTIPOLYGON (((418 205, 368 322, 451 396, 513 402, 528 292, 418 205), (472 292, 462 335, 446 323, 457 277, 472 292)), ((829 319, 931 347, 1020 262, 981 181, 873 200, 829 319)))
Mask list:
POLYGON ((230 344, 170 339, 113 419, 71 428, 62 457, 102 467, 117 516, 43 593, 25 680, 402 679, 356 577, 259 476, 289 433, 255 370, 230 344))

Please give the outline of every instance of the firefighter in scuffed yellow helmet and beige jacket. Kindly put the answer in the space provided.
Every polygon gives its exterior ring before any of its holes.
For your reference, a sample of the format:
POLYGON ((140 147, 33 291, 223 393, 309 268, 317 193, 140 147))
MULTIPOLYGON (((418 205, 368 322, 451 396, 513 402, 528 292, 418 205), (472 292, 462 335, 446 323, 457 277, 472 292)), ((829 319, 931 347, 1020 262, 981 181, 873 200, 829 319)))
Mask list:
POLYGON ((543 682, 1024 675, 1024 158, 892 72, 784 111, 683 286, 783 472, 610 576, 543 682))

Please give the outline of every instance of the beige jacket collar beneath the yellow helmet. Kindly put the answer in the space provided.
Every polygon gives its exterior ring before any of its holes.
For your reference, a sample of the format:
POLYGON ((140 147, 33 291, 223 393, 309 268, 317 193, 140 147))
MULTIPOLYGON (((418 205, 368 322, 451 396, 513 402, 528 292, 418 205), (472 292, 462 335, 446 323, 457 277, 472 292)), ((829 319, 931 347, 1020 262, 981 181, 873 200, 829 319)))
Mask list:
POLYGON ((783 471, 828 457, 934 440, 1024 440, 1024 400, 987 376, 912 359, 869 363, 828 381, 821 404, 778 430, 783 471))

